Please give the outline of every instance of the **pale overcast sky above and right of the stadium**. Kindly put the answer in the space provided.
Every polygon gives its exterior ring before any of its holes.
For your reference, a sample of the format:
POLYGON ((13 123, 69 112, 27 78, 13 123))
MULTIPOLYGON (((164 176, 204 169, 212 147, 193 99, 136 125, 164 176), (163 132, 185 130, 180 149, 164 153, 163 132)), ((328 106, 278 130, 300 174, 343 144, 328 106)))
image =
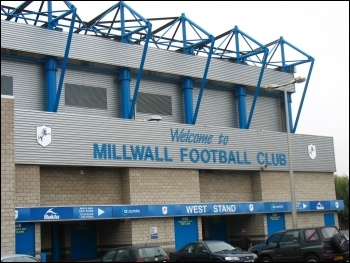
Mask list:
MULTIPOLYGON (((118 3, 70 2, 84 21, 118 3)), ((315 63, 296 133, 333 137, 337 174, 349 175, 349 1, 124 2, 144 18, 184 13, 213 36, 234 26, 262 44, 282 36, 312 56, 315 63)), ((19 3, 1 1, 10 6, 19 3)), ((297 67, 295 76, 307 77, 307 70, 297 67)), ((296 89, 292 97, 294 117, 303 90, 296 89)))

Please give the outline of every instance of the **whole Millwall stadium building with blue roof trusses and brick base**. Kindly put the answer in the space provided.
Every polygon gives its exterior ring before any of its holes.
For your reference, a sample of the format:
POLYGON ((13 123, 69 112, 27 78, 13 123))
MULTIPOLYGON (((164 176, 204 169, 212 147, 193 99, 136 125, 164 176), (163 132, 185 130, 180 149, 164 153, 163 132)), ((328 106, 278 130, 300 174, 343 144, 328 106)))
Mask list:
POLYGON ((338 225, 333 138, 296 132, 312 56, 132 2, 88 22, 40 3, 1 8, 2 254, 83 260, 338 225))

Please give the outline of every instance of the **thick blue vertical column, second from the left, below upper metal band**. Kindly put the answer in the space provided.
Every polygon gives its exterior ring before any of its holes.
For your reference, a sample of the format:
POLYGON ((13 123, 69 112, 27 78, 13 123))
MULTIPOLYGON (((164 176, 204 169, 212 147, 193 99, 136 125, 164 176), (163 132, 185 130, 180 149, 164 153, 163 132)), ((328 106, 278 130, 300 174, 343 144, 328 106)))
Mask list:
MULTIPOLYGON (((123 68, 119 74, 122 118, 129 119, 130 113, 130 69, 123 68)), ((133 115, 132 115, 133 116, 133 115)))

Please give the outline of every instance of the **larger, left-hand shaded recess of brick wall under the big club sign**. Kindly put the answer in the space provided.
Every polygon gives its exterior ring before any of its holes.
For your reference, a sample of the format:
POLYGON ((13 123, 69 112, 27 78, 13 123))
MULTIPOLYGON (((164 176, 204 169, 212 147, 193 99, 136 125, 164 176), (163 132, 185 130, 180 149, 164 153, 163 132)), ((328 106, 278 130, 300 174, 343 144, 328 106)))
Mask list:
POLYGON ((120 204, 122 173, 120 168, 41 167, 41 206, 120 204))

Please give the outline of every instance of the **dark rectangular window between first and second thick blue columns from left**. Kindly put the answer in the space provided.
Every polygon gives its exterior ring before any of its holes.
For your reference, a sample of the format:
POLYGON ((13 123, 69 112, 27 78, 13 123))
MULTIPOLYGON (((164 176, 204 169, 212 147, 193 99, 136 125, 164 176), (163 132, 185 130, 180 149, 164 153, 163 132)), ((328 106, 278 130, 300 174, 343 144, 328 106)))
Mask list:
POLYGON ((106 110, 107 90, 66 83, 65 105, 106 110))

